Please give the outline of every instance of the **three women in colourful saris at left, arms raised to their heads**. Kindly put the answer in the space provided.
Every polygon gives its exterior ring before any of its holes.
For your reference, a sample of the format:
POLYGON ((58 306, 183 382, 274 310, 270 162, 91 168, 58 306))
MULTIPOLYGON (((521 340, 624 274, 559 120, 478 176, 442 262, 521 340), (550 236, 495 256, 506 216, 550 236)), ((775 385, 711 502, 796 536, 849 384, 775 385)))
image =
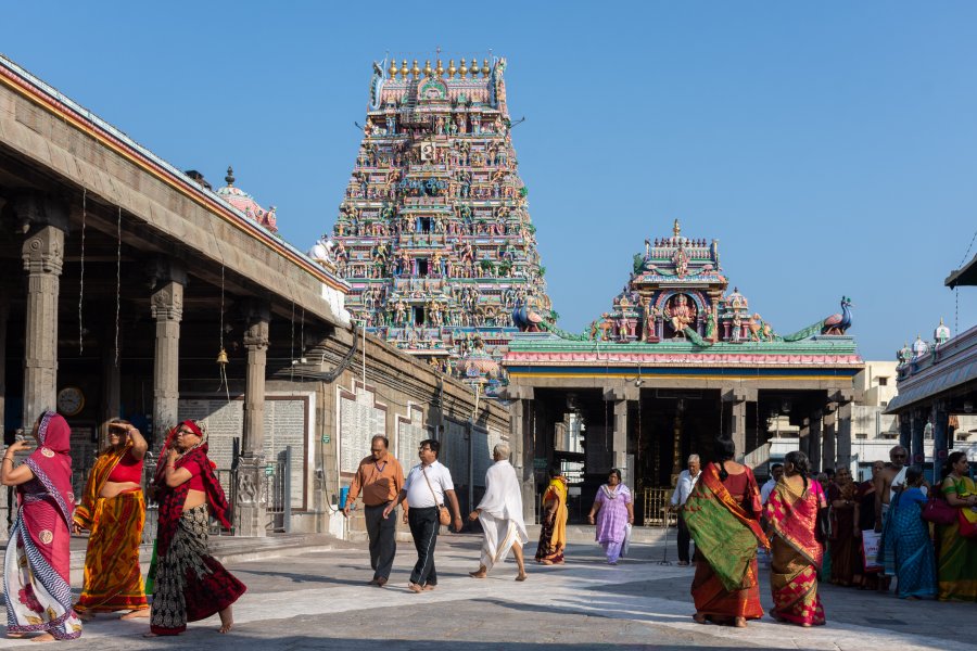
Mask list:
POLYGON ((29 438, 7 448, 0 483, 15 486, 17 494, 3 570, 8 637, 75 639, 81 636, 83 621, 118 611, 127 611, 123 618, 148 617, 148 637, 178 635, 188 622, 215 613, 220 633, 230 630, 231 604, 245 587, 207 552, 210 516, 228 527, 230 523, 224 490, 207 458, 206 427, 191 420, 174 427, 147 486, 158 502, 160 520, 144 583, 139 549, 148 447, 131 423, 110 421, 107 444, 78 500, 72 490, 71 429, 63 417, 43 412, 29 438), (17 463, 15 455, 31 448, 17 463), (75 602, 71 535, 83 531, 89 538, 81 596, 75 602), (148 595, 153 596, 151 605, 148 595))

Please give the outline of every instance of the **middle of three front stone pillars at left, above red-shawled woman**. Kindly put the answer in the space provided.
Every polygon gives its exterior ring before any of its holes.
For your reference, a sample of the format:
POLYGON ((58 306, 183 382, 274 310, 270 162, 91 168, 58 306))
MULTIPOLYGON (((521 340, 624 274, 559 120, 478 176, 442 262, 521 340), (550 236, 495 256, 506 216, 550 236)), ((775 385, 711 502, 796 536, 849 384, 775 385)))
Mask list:
POLYGON ((172 271, 169 279, 163 279, 156 285, 150 303, 150 311, 156 320, 153 357, 153 444, 156 447, 163 445, 167 430, 179 419, 180 321, 186 276, 179 269, 172 271))

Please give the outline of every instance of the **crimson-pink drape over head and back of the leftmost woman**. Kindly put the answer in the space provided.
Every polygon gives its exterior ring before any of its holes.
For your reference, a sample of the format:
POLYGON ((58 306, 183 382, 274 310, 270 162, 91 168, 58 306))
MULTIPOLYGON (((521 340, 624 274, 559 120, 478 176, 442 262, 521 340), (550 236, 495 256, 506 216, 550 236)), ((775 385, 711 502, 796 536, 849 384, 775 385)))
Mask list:
MULTIPOLYGON (((45 411, 37 426, 37 449, 24 461, 58 507, 65 525, 72 526, 75 495, 72 493, 72 429, 54 411, 45 411)), ((22 488, 23 484, 18 487, 22 488)), ((18 492, 18 496, 22 492, 18 492)))

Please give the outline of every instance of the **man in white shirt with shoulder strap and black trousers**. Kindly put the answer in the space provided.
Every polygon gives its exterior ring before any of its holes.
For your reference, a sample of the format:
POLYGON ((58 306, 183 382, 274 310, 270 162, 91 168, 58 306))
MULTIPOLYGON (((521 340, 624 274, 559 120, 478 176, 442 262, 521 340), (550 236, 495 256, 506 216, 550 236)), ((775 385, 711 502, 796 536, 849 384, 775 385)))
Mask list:
POLYGON ((407 524, 410 526, 410 535, 417 548, 417 563, 407 584, 411 592, 433 590, 437 585, 434 546, 437 544, 437 531, 441 528, 439 507, 444 505, 445 497, 455 513, 455 531, 461 531, 461 509, 455 495, 455 484, 452 482, 451 471, 437 461, 439 449, 441 444, 433 438, 421 441, 417 452, 421 462, 410 469, 397 498, 383 509, 383 518, 389 518, 405 498, 410 505, 407 510, 407 524))

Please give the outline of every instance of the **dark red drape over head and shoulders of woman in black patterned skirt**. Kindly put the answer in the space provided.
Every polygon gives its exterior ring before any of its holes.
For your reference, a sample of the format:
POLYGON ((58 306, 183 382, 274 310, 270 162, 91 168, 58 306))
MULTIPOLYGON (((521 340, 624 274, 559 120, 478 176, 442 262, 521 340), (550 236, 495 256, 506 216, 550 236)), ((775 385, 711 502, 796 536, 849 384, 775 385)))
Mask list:
MULTIPOLYGON (((193 421, 183 421, 180 425, 186 425, 195 432, 200 432, 202 441, 200 445, 187 450, 178 458, 174 465, 177 469, 187 468, 192 473, 192 464, 196 464, 203 480, 211 514, 217 518, 224 526, 230 527, 230 521, 227 519, 229 510, 227 497, 224 495, 224 488, 220 486, 220 482, 217 481, 217 476, 214 474, 214 467, 207 458, 206 433, 193 421)), ((177 425, 177 427, 180 425, 177 425)), ((167 438, 167 446, 170 443, 169 438, 173 437, 175 432, 176 429, 170 432, 170 436, 167 438)), ((156 552, 160 557, 164 557, 169 550, 169 544, 173 541, 173 536, 176 534, 180 516, 183 513, 183 502, 187 501, 187 494, 190 492, 190 482, 188 480, 179 486, 167 486, 165 480, 165 457, 161 455, 160 460, 163 463, 164 472, 160 473, 157 471, 155 480, 160 489, 160 524, 156 532, 156 552)))

